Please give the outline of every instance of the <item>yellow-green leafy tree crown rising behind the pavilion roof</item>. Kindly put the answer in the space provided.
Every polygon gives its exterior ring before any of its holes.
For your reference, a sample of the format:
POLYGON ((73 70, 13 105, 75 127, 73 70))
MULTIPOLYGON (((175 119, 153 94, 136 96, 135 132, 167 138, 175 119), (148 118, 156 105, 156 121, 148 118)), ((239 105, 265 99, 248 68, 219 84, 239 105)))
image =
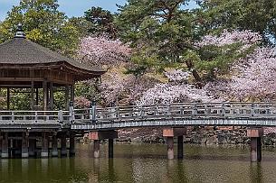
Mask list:
POLYGON ((16 25, 23 23, 27 39, 72 56, 80 32, 58 7, 57 0, 21 1, 0 23, 0 42, 13 38, 16 25))

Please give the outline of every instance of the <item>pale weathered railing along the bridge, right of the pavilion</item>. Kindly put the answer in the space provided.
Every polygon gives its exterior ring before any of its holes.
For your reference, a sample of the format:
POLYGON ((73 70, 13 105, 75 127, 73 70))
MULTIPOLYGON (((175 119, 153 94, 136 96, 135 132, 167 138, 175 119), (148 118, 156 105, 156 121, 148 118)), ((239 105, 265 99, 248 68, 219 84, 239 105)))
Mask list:
MULTIPOLYGON (((81 115, 81 113, 80 113, 81 115)), ((83 119, 89 119, 90 109, 83 119)), ((97 108, 97 120, 186 118, 276 118, 276 105, 268 103, 185 103, 97 108)))

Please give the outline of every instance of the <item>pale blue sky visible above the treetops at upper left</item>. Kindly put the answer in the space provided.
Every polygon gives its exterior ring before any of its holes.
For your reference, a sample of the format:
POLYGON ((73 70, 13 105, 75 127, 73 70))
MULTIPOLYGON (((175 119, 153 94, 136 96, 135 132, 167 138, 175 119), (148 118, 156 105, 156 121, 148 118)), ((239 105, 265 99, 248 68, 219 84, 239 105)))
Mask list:
MULTIPOLYGON (((0 0, 0 21, 5 19, 6 13, 13 5, 19 5, 20 0, 0 0)), ((125 5, 127 0, 59 0, 60 11, 65 12, 69 17, 82 16, 91 6, 100 6, 110 12, 117 11, 117 5, 125 5)), ((195 7, 195 3, 190 5, 195 7)))

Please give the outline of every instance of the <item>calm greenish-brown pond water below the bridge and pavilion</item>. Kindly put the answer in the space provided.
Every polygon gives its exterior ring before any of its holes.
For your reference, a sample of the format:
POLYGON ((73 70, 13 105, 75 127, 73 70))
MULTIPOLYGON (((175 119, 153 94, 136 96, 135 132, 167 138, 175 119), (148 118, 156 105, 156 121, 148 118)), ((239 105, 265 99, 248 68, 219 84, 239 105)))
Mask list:
POLYGON ((251 163, 248 148, 185 145, 185 160, 167 160, 165 144, 116 144, 114 159, 92 158, 77 144, 74 158, 0 160, 0 182, 276 182, 276 150, 251 163))

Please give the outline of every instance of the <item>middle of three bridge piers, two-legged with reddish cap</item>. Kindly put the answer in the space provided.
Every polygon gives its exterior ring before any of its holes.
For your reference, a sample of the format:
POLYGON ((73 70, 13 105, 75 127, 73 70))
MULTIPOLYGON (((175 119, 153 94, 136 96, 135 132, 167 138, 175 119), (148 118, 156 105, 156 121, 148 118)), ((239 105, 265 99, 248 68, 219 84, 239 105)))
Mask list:
POLYGON ((174 137, 177 137, 177 159, 183 159, 183 135, 186 128, 163 129, 163 136, 167 137, 167 159, 174 159, 174 137))

